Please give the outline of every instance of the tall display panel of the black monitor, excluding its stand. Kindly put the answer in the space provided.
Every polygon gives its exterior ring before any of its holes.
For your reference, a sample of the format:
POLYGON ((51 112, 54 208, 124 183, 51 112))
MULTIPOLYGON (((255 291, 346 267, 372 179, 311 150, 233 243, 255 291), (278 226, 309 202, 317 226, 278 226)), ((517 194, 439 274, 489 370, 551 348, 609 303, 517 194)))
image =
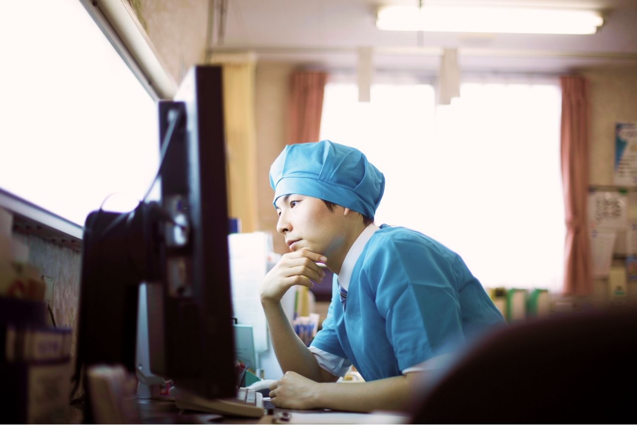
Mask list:
POLYGON ((176 137, 183 145, 168 147, 161 173, 162 206, 175 224, 166 230, 164 329, 151 333, 166 338, 163 350, 151 342, 151 351, 165 353, 165 369, 151 356, 151 370, 208 398, 234 396, 221 68, 192 68, 175 100, 159 105, 160 139, 175 104, 187 119, 176 137))

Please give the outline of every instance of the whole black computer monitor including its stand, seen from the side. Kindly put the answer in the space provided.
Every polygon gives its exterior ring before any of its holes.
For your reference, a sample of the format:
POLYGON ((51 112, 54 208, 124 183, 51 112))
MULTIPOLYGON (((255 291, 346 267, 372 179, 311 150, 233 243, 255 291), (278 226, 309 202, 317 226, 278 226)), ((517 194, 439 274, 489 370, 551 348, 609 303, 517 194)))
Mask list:
POLYGON ((221 69, 190 69, 175 100, 159 103, 159 123, 161 201, 87 217, 76 372, 135 370, 145 282, 150 371, 204 398, 234 397, 221 69))

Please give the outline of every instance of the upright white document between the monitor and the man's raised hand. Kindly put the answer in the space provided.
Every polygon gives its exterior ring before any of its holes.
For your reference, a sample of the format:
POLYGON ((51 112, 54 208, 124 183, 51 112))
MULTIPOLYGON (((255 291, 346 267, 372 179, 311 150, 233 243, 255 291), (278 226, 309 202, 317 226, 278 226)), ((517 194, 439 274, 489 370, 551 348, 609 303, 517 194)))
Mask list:
POLYGON ((228 236, 228 247, 234 316, 239 324, 252 326, 255 351, 265 351, 268 331, 259 287, 268 273, 271 237, 263 232, 233 233, 228 236))

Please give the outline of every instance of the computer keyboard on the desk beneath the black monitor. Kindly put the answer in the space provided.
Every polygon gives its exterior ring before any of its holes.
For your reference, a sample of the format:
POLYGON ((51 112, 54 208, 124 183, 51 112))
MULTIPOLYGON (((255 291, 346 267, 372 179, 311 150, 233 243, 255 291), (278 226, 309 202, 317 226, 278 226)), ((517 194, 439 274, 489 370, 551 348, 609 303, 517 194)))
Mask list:
POLYGON ((262 417, 266 413, 263 408, 263 395, 254 389, 241 387, 234 399, 208 400, 176 387, 170 390, 170 395, 175 398, 175 404, 180 409, 244 417, 262 417))

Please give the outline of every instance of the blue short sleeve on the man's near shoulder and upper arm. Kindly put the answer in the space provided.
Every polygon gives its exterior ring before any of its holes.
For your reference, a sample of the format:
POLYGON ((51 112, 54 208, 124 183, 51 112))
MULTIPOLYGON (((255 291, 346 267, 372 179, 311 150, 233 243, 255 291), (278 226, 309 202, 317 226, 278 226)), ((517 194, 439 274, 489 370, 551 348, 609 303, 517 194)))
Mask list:
POLYGON ((385 238, 368 257, 367 278, 401 370, 464 341, 453 257, 408 237, 385 238))

